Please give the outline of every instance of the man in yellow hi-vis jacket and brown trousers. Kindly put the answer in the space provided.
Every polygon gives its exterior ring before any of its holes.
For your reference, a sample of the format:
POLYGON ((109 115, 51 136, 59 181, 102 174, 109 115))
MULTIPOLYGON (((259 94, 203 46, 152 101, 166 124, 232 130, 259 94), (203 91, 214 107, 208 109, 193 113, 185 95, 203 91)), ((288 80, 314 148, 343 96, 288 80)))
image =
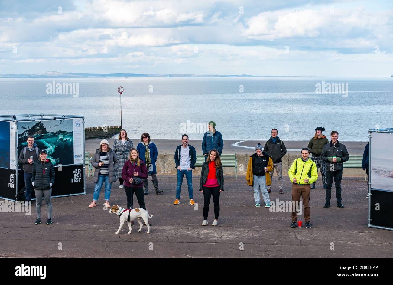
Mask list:
MULTIPOLYGON (((303 199, 304 220, 306 228, 311 228, 310 224, 310 184, 318 178, 318 170, 315 162, 309 159, 310 149, 301 149, 301 158, 297 158, 288 170, 289 179, 292 182, 292 224, 291 228, 296 228, 298 220, 296 207, 300 205, 300 198, 303 199)), ((299 209, 298 209, 299 210, 299 209)))

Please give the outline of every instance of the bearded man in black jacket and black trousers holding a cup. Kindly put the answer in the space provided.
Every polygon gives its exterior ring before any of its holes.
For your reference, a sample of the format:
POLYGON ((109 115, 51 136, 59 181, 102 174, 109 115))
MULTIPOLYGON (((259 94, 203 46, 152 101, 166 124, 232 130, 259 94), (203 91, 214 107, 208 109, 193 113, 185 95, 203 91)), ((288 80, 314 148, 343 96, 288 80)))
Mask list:
POLYGON ((344 208, 341 203, 341 179, 343 177, 343 162, 349 160, 347 148, 338 142, 338 132, 330 133, 331 142, 327 143, 321 153, 321 158, 326 162, 326 197, 323 208, 330 207, 330 197, 332 193, 332 184, 336 186, 337 207, 344 208))

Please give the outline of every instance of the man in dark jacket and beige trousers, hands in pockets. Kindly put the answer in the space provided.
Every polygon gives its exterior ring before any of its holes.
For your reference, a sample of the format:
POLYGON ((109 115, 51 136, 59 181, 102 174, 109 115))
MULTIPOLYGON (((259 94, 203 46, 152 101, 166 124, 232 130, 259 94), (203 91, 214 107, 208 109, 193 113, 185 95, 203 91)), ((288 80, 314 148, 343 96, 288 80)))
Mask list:
MULTIPOLYGON (((273 170, 270 172, 270 177, 272 178, 273 182, 273 173, 274 169, 278 176, 278 189, 280 194, 284 194, 283 191, 283 162, 281 158, 286 154, 286 147, 285 144, 280 138, 278 137, 277 129, 272 129, 272 136, 270 139, 265 143, 263 148, 265 153, 268 153, 273 160, 273 170)), ((272 185, 268 186, 268 193, 272 190, 272 185)))

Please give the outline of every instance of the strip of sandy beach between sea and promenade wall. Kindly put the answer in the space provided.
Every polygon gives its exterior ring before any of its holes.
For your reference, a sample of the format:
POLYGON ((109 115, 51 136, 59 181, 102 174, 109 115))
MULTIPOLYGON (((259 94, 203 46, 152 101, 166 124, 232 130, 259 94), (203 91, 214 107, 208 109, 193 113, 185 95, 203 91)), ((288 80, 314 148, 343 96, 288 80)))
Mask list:
MULTIPOLYGON (((94 152, 98 147, 99 143, 103 140, 99 139, 85 139, 85 151, 89 153, 94 152)), ((106 138, 109 142, 109 146, 113 146, 115 139, 106 138)), ((134 147, 140 142, 139 139, 132 139, 134 147)), ((174 153, 176 147, 181 144, 181 140, 152 140, 157 146, 158 153, 174 153)), ((309 141, 283 141, 287 149, 287 153, 297 153, 300 152, 302 147, 307 147, 309 141)), ((239 153, 239 154, 252 154, 255 152, 255 145, 261 143, 262 146, 266 143, 266 140, 224 140, 224 150, 223 153, 239 153)), ((344 142, 342 143, 347 147, 348 153, 353 155, 363 154, 364 147, 367 142, 344 142)), ((195 147, 196 153, 202 153, 202 140, 190 140, 190 145, 195 147)))

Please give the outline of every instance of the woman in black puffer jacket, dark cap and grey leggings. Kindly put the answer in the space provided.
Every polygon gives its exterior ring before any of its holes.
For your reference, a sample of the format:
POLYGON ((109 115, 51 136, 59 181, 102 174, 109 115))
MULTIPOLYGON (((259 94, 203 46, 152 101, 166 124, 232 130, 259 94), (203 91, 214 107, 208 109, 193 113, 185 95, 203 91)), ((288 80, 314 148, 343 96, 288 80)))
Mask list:
POLYGON ((46 224, 52 224, 52 186, 55 184, 55 168, 49 159, 46 158, 46 150, 41 150, 39 160, 33 165, 33 174, 31 175, 31 184, 35 193, 35 211, 37 212, 37 221, 34 224, 41 223, 41 204, 42 196, 45 198, 46 211, 48 220, 46 224))

